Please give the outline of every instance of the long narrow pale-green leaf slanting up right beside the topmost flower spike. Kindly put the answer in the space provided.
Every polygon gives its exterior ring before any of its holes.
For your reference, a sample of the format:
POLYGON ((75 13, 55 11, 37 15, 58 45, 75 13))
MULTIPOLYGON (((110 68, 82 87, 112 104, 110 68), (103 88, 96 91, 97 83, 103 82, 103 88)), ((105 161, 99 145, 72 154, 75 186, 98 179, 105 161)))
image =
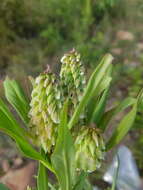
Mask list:
POLYGON ((95 89, 98 87, 98 84, 102 81, 102 79, 106 76, 106 72, 110 67, 112 59, 113 57, 110 54, 105 55, 101 60, 101 63, 97 66, 97 68, 91 75, 83 97, 79 105, 76 107, 75 112, 69 122, 69 129, 71 129, 77 123, 83 109, 88 104, 90 99, 94 96, 95 89))

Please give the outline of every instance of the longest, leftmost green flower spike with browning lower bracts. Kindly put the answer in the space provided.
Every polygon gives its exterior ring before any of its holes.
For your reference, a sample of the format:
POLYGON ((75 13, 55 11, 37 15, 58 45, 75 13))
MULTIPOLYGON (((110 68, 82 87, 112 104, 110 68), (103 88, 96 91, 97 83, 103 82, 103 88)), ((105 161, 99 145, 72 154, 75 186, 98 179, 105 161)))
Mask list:
POLYGON ((55 75, 50 71, 40 74, 33 82, 30 130, 45 152, 55 145, 59 124, 60 91, 55 75))

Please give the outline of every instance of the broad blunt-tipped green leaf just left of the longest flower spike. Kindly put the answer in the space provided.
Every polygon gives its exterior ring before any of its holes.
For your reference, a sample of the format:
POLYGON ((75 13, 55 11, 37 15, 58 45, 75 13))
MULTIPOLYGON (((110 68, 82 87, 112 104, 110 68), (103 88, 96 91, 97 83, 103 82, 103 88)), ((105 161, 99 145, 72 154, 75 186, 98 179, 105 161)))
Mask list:
POLYGON ((29 102, 21 86, 15 81, 6 78, 4 81, 5 96, 9 103, 15 108, 25 124, 29 123, 29 102))

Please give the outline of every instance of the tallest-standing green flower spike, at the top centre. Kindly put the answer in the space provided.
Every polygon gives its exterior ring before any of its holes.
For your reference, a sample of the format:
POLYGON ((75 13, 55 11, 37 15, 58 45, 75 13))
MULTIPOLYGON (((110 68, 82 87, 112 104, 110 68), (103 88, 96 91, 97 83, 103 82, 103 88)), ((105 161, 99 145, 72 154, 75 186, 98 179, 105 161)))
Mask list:
POLYGON ((62 59, 60 78, 63 94, 69 98, 75 108, 80 101, 85 88, 85 74, 81 63, 80 54, 72 50, 62 59))

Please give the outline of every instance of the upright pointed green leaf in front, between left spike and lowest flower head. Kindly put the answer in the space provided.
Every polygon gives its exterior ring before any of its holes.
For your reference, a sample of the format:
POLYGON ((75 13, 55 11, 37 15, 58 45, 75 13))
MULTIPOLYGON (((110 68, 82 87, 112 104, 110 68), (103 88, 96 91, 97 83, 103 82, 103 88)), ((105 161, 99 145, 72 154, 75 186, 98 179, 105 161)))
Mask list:
POLYGON ((72 136, 67 126, 67 107, 66 102, 61 112, 58 138, 51 157, 61 190, 72 189, 75 174, 75 151, 72 136))

